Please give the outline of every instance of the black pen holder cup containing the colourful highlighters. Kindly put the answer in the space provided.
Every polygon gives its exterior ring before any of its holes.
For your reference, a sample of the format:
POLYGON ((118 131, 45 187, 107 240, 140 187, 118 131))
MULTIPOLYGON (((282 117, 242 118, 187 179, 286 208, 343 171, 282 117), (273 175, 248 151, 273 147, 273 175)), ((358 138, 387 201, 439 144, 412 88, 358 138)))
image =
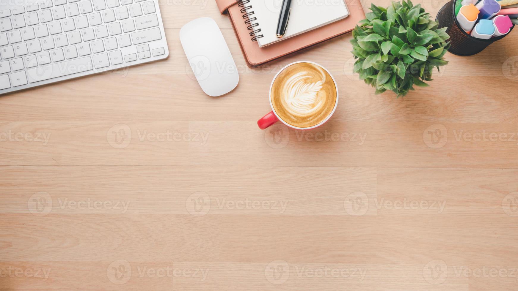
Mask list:
MULTIPOLYGON (((457 21, 455 16, 455 1, 460 0, 451 0, 442 6, 435 19, 435 21, 439 22, 439 28, 448 27, 446 32, 450 35, 450 39, 448 40, 451 41, 451 47, 448 49, 450 53, 459 56, 478 54, 487 48, 488 45, 508 35, 493 37, 491 39, 479 39, 470 36, 461 28, 461 25, 457 21)), ((514 25, 511 27, 511 30, 513 28, 514 25)))

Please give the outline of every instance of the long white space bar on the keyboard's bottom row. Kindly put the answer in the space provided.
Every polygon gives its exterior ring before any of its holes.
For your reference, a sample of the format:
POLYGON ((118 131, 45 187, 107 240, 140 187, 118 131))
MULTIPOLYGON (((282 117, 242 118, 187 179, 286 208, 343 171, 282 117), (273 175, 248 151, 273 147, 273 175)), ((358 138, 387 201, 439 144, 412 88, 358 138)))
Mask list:
POLYGON ((35 83, 92 69, 92 58, 87 56, 68 60, 67 62, 28 69, 27 80, 29 83, 35 83))

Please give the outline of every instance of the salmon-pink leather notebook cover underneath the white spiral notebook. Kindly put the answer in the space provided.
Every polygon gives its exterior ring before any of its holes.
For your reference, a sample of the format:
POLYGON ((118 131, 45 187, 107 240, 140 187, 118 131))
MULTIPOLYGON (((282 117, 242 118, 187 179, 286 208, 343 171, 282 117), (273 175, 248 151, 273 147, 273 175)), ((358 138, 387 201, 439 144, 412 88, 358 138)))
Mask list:
MULTIPOLYGON (((353 30, 356 23, 365 18, 365 12, 359 0, 345 1, 350 12, 345 19, 263 48, 260 48, 256 41, 252 41, 251 30, 248 30, 248 25, 244 23, 246 19, 243 19, 244 13, 241 12, 239 2, 236 0, 216 0, 216 4, 221 14, 228 14, 247 65, 256 67, 353 30)), ((261 23, 260 19, 258 21, 261 23)))

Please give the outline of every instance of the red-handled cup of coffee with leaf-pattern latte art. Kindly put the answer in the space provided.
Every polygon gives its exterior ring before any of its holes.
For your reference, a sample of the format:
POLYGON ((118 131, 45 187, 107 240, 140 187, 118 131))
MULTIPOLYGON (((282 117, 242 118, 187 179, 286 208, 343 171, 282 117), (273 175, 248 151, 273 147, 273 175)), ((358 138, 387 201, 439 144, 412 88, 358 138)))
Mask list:
POLYGON ((336 81, 324 67, 303 61, 282 68, 270 85, 270 113, 257 121, 261 129, 281 121, 294 129, 323 125, 338 104, 336 81))

